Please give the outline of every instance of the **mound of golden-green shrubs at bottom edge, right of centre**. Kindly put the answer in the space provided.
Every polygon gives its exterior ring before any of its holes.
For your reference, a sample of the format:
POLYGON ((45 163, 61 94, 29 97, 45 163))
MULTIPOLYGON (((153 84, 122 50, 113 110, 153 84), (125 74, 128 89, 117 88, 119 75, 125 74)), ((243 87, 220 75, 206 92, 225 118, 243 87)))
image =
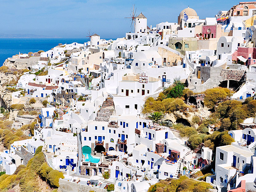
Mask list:
POLYGON ((166 179, 152 185, 148 192, 208 192, 212 186, 181 176, 179 179, 166 179))

